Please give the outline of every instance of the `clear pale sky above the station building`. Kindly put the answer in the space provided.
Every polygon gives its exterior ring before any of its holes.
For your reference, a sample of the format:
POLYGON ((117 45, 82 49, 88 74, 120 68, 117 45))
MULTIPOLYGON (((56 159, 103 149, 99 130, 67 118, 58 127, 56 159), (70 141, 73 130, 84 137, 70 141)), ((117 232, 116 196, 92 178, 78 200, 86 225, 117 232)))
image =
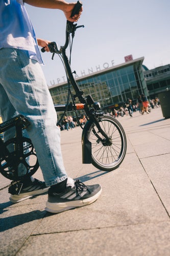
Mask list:
MULTIPOLYGON (((71 3, 71 1, 68 1, 71 3)), ((72 70, 79 77, 89 69, 104 69, 124 63, 124 57, 143 57, 143 65, 153 69, 170 63, 169 0, 84 0, 83 13, 72 49, 72 70)), ((37 37, 63 45, 65 16, 60 10, 26 4, 37 37)), ((48 86, 63 82, 65 72, 57 55, 43 53, 48 86)))

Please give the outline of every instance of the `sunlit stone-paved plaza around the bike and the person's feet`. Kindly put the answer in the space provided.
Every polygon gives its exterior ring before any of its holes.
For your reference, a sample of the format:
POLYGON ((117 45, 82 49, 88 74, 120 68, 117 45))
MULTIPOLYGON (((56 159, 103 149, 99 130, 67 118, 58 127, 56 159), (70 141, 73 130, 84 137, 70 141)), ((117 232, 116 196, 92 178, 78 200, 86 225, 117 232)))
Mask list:
MULTIPOLYGON (((0 255, 170 255, 170 118, 158 108, 118 120, 128 146, 112 172, 82 164, 80 127, 61 132, 68 176, 102 185, 91 205, 50 214, 47 194, 12 204, 0 174, 0 255)), ((34 177, 42 180, 40 169, 34 177)))

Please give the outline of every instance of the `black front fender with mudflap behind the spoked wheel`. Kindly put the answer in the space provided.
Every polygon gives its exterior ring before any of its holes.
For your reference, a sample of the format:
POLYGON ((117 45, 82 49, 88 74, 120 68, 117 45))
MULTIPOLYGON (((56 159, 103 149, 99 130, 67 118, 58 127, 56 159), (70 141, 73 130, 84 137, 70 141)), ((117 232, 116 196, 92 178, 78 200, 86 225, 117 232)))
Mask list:
POLYGON ((92 121, 88 120, 82 132, 82 163, 91 163, 91 142, 87 138, 89 127, 92 121))

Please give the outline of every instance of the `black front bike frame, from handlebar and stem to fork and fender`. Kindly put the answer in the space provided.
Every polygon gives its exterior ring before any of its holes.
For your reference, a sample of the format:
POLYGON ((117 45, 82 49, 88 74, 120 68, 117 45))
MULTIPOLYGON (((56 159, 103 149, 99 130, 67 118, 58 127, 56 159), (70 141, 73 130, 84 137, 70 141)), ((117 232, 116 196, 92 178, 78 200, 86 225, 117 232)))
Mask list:
MULTIPOLYGON (((94 132, 94 134, 96 134, 96 137, 103 144, 111 145, 112 142, 111 142, 111 139, 107 136, 107 134, 102 130, 102 128, 100 126, 100 120, 101 120, 102 116, 104 115, 104 112, 102 112, 102 110, 100 109, 100 103, 94 102, 91 95, 88 95, 87 97, 83 96, 84 92, 80 90, 80 88, 72 74, 70 63, 69 63, 68 57, 66 55, 66 49, 69 44, 69 34, 72 34, 72 37, 74 37, 76 29, 80 28, 80 27, 84 27, 84 26, 77 27, 77 24, 71 23, 67 20, 65 45, 62 46, 59 50, 56 42, 52 42, 48 45, 48 47, 49 47, 50 51, 53 53, 53 57, 54 57, 55 53, 62 55, 64 67, 65 67, 65 70, 67 73, 67 77, 68 77, 70 83, 72 84, 72 87, 74 88, 75 93, 76 93, 73 97, 74 97, 74 99, 77 97, 79 99, 79 101, 83 104, 82 109, 84 109, 86 115, 88 116, 88 121, 84 126, 83 134, 82 134, 82 150, 83 150, 83 163, 91 163, 91 142, 88 141, 88 139, 87 139, 87 131, 88 131, 89 123, 90 124, 94 123, 96 125, 98 132, 104 137, 104 139, 101 138, 99 133, 96 132, 95 130, 93 132, 94 132), (90 106, 90 108, 89 108, 89 106, 90 106)), ((52 57, 52 59, 53 59, 53 57, 52 57)), ((55 109, 56 109, 56 111, 65 111, 65 110, 71 111, 71 110, 77 109, 77 106, 76 106, 76 104, 55 105, 55 109)))

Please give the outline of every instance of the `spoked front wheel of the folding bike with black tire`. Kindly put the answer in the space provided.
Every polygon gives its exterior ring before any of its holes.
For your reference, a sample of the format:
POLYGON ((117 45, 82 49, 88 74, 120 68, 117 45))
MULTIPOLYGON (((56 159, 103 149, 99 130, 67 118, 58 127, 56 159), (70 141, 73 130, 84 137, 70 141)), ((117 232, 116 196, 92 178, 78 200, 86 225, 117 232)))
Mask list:
POLYGON ((123 162, 127 140, 122 125, 112 116, 104 115, 100 120, 101 129, 110 138, 110 144, 104 143, 104 136, 94 123, 91 123, 87 137, 91 142, 91 163, 101 170, 111 171, 123 162))

